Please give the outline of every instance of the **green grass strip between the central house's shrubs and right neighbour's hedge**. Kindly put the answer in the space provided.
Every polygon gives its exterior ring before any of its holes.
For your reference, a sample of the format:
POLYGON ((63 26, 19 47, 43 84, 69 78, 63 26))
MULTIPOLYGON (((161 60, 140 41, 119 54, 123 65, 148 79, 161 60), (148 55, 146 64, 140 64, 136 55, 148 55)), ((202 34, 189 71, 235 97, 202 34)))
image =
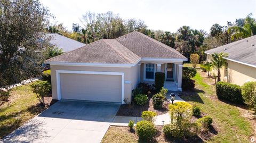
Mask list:
POLYGON ((213 118, 218 134, 207 142, 250 142, 252 126, 241 116, 238 108, 219 101, 214 86, 207 85, 198 73, 193 79, 196 81, 197 94, 182 98, 190 104, 198 105, 203 113, 213 118))

